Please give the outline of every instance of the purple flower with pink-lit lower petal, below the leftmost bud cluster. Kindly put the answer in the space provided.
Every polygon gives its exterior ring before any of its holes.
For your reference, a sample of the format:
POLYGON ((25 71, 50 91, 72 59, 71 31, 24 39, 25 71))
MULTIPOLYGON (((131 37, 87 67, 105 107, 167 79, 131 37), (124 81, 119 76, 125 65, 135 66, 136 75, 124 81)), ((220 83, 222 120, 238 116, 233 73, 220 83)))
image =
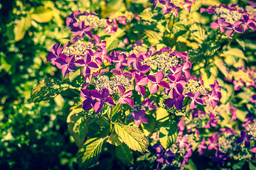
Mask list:
POLYGON ((70 71, 76 70, 74 61, 75 61, 74 55, 71 55, 70 57, 67 57, 66 59, 59 58, 58 60, 56 60, 56 63, 60 64, 59 68, 62 69, 63 77, 65 77, 70 71))

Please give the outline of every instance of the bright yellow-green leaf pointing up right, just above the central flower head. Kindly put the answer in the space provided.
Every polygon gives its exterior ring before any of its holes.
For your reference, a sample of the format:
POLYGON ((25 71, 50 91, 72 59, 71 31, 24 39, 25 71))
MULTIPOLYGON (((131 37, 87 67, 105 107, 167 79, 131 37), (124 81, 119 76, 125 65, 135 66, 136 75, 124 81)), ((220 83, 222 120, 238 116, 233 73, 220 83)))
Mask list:
POLYGON ((121 28, 118 28, 117 33, 111 34, 110 38, 106 38, 105 40, 107 42, 107 45, 106 45, 107 51, 111 51, 117 48, 117 45, 119 44, 119 41, 124 34, 125 34, 124 30, 122 30, 121 28))

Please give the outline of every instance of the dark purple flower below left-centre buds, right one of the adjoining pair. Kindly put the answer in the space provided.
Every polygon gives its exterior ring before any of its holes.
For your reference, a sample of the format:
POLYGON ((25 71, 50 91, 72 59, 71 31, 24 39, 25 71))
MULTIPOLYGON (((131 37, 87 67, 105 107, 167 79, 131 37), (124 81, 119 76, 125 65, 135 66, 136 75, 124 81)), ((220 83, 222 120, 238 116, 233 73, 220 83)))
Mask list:
POLYGON ((109 97, 110 91, 108 89, 102 89, 100 94, 94 93, 92 96, 96 98, 96 101, 92 102, 92 106, 95 109, 96 114, 102 111, 104 103, 107 103, 109 106, 115 106, 113 98, 109 97))

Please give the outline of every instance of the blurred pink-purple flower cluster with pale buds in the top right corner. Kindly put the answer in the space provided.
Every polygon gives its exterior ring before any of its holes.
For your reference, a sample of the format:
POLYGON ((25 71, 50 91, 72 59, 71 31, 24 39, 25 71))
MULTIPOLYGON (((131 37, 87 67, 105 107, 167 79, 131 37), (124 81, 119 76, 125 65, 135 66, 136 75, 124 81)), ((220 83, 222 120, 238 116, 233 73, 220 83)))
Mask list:
POLYGON ((209 6, 208 8, 201 8, 201 13, 208 12, 218 16, 218 21, 211 23, 210 28, 220 28, 222 33, 226 31, 228 37, 233 33, 243 33, 250 28, 256 30, 255 26, 255 6, 248 2, 251 6, 242 8, 237 4, 220 4, 218 6, 209 6))

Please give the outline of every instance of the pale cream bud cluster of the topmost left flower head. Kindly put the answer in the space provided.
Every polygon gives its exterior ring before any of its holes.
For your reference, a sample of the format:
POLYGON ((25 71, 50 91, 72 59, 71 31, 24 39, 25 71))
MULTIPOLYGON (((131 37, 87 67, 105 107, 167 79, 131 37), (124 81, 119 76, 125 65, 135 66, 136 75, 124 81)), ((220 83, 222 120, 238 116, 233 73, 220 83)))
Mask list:
POLYGON ((95 15, 88 15, 88 16, 79 16, 80 21, 85 22, 85 26, 92 26, 92 28, 105 28, 107 27, 107 19, 102 18, 100 19, 98 16, 95 15))

